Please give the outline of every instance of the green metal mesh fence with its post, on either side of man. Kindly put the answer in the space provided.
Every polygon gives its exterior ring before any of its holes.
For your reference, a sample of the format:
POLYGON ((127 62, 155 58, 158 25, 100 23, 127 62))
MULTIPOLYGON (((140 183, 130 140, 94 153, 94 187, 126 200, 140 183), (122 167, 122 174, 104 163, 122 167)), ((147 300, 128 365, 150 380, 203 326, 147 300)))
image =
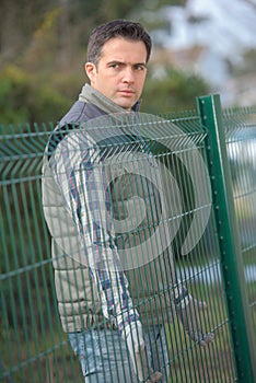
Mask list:
MULTIPOLYGON (((160 123, 141 114, 136 121, 162 169, 176 272, 207 302, 200 321, 214 333, 200 348, 170 317, 168 381, 249 383, 256 381, 256 109, 223 111, 218 95, 197 102, 195 113, 160 123)), ((60 325, 42 209, 42 159, 53 128, 1 127, 1 382, 83 381, 60 325)), ((171 277, 161 294, 170 293, 171 277)))

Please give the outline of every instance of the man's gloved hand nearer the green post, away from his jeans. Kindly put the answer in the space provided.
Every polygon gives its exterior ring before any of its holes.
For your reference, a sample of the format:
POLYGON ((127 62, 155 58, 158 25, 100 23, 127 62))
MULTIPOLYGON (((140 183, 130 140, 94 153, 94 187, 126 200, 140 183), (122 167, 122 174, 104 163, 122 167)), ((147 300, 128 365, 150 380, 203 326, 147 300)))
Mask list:
POLYGON ((189 337, 202 347, 211 343, 214 339, 214 335, 212 333, 203 334, 200 324, 200 311, 207 309, 206 302, 198 302, 188 294, 185 288, 182 288, 182 293, 179 292, 174 302, 177 316, 189 337))

